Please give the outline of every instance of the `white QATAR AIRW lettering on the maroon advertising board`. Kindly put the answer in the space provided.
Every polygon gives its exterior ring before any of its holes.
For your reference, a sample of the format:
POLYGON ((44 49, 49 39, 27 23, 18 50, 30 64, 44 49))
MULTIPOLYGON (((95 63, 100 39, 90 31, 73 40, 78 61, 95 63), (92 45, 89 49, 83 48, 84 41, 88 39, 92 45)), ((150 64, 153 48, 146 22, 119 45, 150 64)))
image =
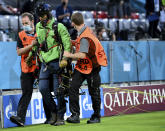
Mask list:
POLYGON ((110 111, 115 107, 136 106, 142 104, 158 104, 165 102, 165 89, 149 89, 143 91, 128 90, 119 92, 106 92, 104 105, 110 111))

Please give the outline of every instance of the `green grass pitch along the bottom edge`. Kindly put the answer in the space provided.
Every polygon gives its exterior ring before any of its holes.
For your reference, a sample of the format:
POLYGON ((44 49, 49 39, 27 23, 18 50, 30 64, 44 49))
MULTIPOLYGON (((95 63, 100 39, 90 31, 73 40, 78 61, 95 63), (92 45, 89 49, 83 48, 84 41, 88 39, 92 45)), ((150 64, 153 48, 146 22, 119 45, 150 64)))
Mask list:
POLYGON ((66 122, 63 126, 31 125, 0 129, 1 131, 165 131, 165 111, 104 117, 99 124, 80 124, 66 122))

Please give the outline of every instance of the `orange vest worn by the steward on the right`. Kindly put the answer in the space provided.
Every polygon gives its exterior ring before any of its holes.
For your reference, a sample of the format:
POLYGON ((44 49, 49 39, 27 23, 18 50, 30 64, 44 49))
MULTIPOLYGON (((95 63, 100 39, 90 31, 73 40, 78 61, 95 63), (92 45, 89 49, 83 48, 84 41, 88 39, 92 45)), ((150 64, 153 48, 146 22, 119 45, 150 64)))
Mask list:
POLYGON ((89 74, 93 67, 97 67, 98 65, 107 66, 107 57, 105 55, 104 48, 88 27, 80 35, 80 37, 77 38, 77 42, 74 41, 76 52, 79 52, 80 40, 82 38, 86 38, 89 41, 89 51, 87 53, 87 57, 77 61, 75 69, 81 73, 89 74))

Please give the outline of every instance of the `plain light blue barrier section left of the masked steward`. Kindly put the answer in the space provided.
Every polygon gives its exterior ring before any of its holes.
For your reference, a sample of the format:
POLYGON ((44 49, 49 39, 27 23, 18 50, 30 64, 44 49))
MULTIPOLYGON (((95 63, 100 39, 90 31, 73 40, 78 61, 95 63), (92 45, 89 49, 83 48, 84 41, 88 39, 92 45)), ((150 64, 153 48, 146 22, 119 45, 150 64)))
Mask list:
POLYGON ((16 42, 0 42, 0 89, 20 88, 20 59, 16 42))

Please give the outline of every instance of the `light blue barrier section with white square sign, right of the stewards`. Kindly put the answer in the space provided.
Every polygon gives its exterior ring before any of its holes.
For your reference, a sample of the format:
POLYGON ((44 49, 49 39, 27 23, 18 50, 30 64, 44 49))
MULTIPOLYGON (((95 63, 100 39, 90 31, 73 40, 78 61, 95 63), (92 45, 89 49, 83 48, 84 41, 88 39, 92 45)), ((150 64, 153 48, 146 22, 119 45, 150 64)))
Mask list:
POLYGON ((102 42, 108 67, 101 71, 102 83, 165 80, 164 41, 102 42))

